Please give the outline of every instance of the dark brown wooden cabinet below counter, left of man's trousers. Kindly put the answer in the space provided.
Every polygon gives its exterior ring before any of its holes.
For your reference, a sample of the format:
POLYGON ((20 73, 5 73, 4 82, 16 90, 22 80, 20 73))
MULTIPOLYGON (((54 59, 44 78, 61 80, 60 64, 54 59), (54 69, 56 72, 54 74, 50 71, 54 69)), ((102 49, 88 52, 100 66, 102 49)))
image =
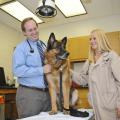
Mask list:
POLYGON ((0 111, 2 120, 16 120, 18 118, 15 102, 16 89, 0 89, 0 96, 4 98, 0 111))

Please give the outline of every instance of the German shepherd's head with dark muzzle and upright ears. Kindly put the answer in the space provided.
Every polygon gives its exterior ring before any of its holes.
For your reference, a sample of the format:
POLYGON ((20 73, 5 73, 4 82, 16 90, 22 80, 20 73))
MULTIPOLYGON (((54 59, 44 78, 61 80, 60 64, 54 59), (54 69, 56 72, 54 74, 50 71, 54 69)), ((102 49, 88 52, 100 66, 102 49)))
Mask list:
POLYGON ((49 54, 47 57, 49 56, 49 59, 53 59, 54 57, 54 62, 56 63, 65 61, 69 56, 69 52, 66 50, 66 43, 67 37, 58 41, 54 33, 51 33, 47 43, 47 53, 49 54))

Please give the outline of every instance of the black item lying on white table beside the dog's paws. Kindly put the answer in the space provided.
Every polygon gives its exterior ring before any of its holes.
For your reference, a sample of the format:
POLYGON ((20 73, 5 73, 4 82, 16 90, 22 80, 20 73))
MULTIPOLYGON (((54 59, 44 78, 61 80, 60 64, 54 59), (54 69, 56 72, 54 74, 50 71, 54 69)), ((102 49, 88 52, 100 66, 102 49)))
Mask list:
POLYGON ((75 117, 88 117, 89 113, 87 111, 78 111, 77 109, 70 108, 70 115, 75 117))

